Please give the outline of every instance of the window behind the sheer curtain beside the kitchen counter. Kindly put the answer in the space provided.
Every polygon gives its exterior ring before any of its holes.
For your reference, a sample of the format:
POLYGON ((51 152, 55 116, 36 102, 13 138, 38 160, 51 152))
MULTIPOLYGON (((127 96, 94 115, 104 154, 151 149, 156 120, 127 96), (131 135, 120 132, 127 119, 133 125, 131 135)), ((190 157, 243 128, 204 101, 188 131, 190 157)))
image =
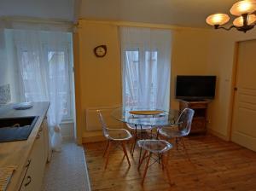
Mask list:
MULTIPOLYGON (((58 91, 58 97, 61 99, 61 107, 62 109, 62 116, 63 119, 73 119, 72 115, 72 95, 71 95, 71 82, 72 82, 72 67, 70 64, 70 59, 68 55, 68 49, 49 49, 44 47, 45 52, 45 63, 48 65, 46 68, 49 70, 49 85, 50 82, 53 80, 58 80, 67 82, 67 86, 65 89, 58 91), (58 70, 58 72, 55 72, 58 70)), ((23 79, 24 84, 35 84, 35 79, 40 81, 38 84, 44 84, 44 78, 36 78, 35 75, 44 75, 42 73, 42 66, 40 66, 41 62, 38 58, 37 52, 27 51, 26 49, 22 48, 20 49, 21 54, 21 66, 22 68, 22 75, 21 78, 23 79), (33 57, 31 59, 31 57, 33 57), (31 61, 35 61, 31 63, 31 61), (36 64, 35 64, 36 63, 36 64), (35 68, 36 67, 36 68, 35 68), (38 71, 38 72, 35 72, 38 71)), ((43 70, 44 71, 44 70, 43 70)), ((45 82, 47 83, 47 82, 45 82)), ((54 90, 50 89, 50 90, 54 90)), ((37 89, 35 88, 28 88, 27 85, 24 87, 24 95, 26 101, 45 101, 48 100, 46 97, 42 98, 42 95, 44 95, 45 89, 37 89), (40 100, 38 100, 41 97, 40 100)), ((54 91, 49 92, 49 99, 54 99, 54 91)))

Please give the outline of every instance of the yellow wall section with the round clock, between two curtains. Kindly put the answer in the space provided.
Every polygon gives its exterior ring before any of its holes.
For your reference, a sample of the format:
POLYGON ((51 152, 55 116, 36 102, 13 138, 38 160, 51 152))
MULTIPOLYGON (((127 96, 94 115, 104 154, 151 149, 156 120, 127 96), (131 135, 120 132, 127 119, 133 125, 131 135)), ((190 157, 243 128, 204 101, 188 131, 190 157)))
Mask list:
POLYGON ((75 36, 74 39, 79 41, 75 44, 75 51, 79 51, 75 55, 75 79, 78 137, 81 142, 81 135, 95 135, 95 132, 86 132, 86 108, 121 105, 121 65, 117 26, 79 20, 75 36), (107 45, 108 53, 97 58, 93 49, 101 44, 107 45))

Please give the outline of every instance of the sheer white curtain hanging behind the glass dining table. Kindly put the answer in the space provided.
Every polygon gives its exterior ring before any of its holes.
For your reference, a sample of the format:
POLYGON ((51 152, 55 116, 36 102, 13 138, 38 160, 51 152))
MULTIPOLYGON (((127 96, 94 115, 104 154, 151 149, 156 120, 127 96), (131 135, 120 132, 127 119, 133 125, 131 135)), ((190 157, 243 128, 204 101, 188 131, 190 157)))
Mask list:
POLYGON ((172 32, 120 27, 123 105, 168 110, 172 32))

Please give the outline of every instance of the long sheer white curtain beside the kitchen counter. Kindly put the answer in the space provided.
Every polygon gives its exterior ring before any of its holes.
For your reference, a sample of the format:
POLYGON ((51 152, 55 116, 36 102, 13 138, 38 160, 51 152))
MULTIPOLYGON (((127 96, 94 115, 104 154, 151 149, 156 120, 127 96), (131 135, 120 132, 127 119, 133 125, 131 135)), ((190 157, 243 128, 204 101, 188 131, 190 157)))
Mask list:
POLYGON ((60 124, 68 86, 67 32, 11 30, 19 65, 21 101, 50 101, 51 146, 61 150, 60 124))

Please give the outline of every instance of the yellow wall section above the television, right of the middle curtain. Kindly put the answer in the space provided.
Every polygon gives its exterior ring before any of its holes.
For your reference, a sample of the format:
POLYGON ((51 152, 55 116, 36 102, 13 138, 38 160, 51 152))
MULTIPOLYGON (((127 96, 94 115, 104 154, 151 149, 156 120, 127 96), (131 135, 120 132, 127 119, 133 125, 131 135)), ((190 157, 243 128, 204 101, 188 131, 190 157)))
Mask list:
POLYGON ((177 29, 172 35, 171 107, 178 109, 175 100, 177 75, 207 74, 208 31, 200 29, 177 29))

